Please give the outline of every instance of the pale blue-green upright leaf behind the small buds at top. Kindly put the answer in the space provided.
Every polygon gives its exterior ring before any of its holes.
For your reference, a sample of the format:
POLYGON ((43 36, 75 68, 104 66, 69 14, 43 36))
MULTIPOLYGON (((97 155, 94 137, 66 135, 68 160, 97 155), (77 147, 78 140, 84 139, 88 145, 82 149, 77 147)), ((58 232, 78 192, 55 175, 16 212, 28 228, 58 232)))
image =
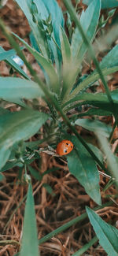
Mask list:
MULTIPOLYGON (((38 22, 40 19, 40 23, 42 24, 43 28, 42 38, 45 37, 43 40, 44 42, 46 41, 48 43, 50 59, 52 62, 55 61, 57 71, 59 72, 61 62, 61 51, 58 49, 61 46, 59 30, 60 27, 64 28, 64 18, 61 12, 61 8, 58 6, 55 0, 50 0, 50 2, 44 0, 35 0, 34 2, 38 11, 36 20, 38 22), (48 28, 51 28, 51 33, 47 32, 48 28)), ((33 43, 33 46, 36 50, 40 50, 38 44, 35 42, 34 35, 31 35, 31 43, 33 43)))

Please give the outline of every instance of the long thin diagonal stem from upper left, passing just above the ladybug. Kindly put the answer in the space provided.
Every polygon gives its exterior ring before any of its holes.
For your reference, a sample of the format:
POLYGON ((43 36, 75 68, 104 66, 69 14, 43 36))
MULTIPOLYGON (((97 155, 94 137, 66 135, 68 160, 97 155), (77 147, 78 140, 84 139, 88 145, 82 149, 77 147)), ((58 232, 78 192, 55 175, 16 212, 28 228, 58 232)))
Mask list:
POLYGON ((68 117, 66 117, 65 113, 63 113, 61 106, 58 104, 56 98, 47 89, 47 87, 45 86, 45 83, 43 83, 42 80, 39 79, 39 77, 36 75, 36 72, 34 71, 34 69, 31 68, 30 63, 28 63, 24 54, 21 52, 20 46, 13 39, 13 36, 10 35, 9 31, 7 31, 6 26, 4 25, 4 23, 2 22, 1 19, 0 19, 0 27, 2 28, 2 32, 4 33, 4 35, 6 35, 6 38, 9 40, 10 45, 14 47, 14 49, 17 51, 17 54, 20 56, 20 58, 23 59, 24 64, 28 67, 28 70, 31 72, 31 76, 34 76, 35 82, 39 84, 39 87, 41 87, 42 91, 46 95, 47 100, 49 102, 53 103, 53 106, 55 107, 57 112, 60 113, 60 115, 63 118, 63 120, 65 121, 65 123, 72 130, 72 132, 76 135, 76 137, 83 144, 83 146, 87 149, 87 151, 90 153, 91 157, 94 158, 94 160, 98 163, 98 165, 101 167, 101 169, 104 169, 106 171, 105 166, 101 163, 101 161, 98 159, 98 157, 90 149, 90 147, 87 145, 87 143, 84 141, 84 139, 79 135, 79 133, 76 131, 76 128, 72 126, 71 122, 69 121, 68 117))

